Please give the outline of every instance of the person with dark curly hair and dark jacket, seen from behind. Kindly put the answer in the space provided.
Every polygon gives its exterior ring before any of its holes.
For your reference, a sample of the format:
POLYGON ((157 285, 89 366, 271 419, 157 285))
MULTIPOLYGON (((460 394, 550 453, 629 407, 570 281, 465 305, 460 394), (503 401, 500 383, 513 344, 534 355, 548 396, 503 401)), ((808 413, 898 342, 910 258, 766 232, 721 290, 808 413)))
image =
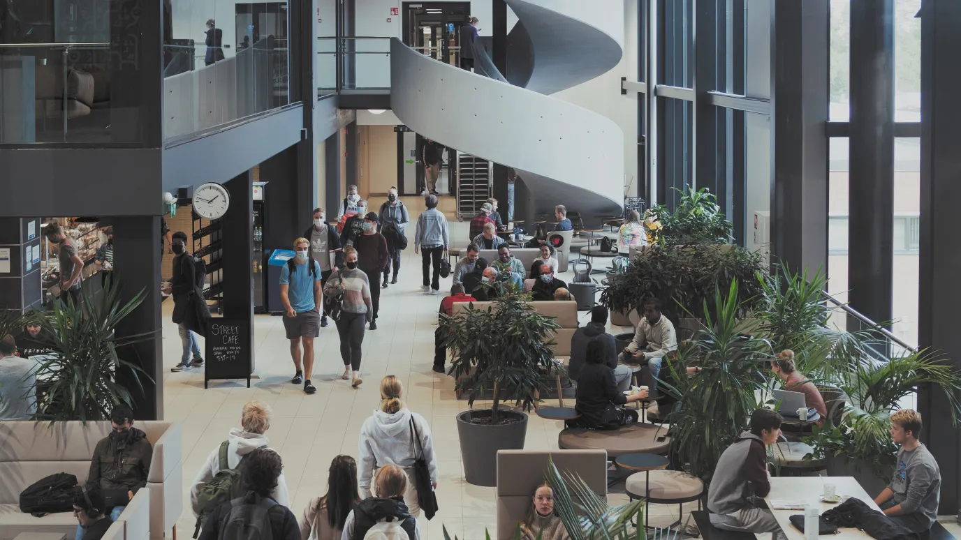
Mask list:
POLYGON ((240 506, 266 508, 271 537, 274 540, 300 540, 300 528, 293 512, 270 498, 270 494, 277 488, 277 479, 283 470, 281 455, 269 448, 259 448, 244 457, 243 467, 244 474, 240 476, 240 481, 246 494, 214 508, 207 518, 203 532, 200 533, 200 540, 220 538, 221 529, 227 526, 233 517, 234 509, 240 506))

